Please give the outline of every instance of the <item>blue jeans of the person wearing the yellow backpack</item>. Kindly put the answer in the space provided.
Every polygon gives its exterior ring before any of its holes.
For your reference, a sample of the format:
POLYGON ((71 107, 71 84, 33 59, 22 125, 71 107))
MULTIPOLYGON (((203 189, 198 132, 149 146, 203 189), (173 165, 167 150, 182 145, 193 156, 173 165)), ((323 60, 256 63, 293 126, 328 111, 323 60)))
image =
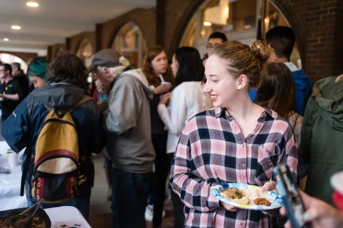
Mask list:
MULTIPOLYGON (((83 217, 87 221, 89 221, 89 206, 90 206, 91 198, 90 197, 78 197, 74 198, 73 200, 70 200, 66 203, 62 204, 42 204, 41 208, 42 209, 49 209, 52 207, 59 207, 59 206, 73 206, 76 207, 82 214, 83 217)), ((28 206, 32 206, 36 201, 28 201, 28 206)))

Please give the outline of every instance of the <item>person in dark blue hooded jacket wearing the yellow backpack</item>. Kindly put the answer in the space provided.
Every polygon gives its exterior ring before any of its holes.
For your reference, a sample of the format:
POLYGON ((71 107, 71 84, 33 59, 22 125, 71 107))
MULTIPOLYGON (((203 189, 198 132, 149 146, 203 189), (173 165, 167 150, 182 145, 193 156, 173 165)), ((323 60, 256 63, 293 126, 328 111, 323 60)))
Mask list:
MULTIPOLYGON (((32 170, 37 138, 49 114, 47 107, 71 110, 86 94, 87 69, 80 58, 74 54, 58 57, 50 66, 48 79, 50 84, 32 91, 8 117, 2 126, 2 137, 10 148, 19 153, 26 147, 26 159, 30 158, 26 175, 25 189, 28 206, 36 203, 31 194, 32 170), (33 151, 29 151, 29 150, 33 151)), ((98 154, 106 144, 102 127, 102 115, 93 99, 86 101, 71 112, 79 141, 80 174, 87 182, 80 186, 80 192, 73 200, 61 204, 42 204, 43 208, 74 206, 88 220, 91 188, 94 182, 94 164, 92 153, 98 154)), ((52 139, 53 140, 53 139, 52 139)), ((25 170, 25 169, 24 169, 25 170)))

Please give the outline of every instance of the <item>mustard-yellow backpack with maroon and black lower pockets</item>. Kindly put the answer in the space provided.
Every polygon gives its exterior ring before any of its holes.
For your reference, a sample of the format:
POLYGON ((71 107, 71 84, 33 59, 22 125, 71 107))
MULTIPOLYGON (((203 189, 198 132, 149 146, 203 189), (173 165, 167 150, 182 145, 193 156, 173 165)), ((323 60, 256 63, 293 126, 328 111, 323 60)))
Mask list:
MULTIPOLYGON (((76 105, 92 100, 85 95, 76 105)), ((75 108, 76 108, 75 107, 75 108)), ((31 177, 32 197, 45 204, 65 203, 79 195, 87 181, 79 172, 76 126, 71 111, 50 110, 39 133, 31 177)), ((74 109, 75 109, 74 108, 74 109)))

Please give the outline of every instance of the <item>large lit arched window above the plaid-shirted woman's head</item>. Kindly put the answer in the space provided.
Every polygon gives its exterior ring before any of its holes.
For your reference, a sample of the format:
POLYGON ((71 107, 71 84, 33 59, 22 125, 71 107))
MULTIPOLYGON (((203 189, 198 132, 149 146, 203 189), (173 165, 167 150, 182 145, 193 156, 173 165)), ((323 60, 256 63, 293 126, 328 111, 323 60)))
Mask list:
MULTIPOLYGON (((223 32, 228 40, 250 44, 263 39, 270 28, 278 25, 290 26, 270 0, 206 0, 188 23, 179 46, 194 46, 203 56, 213 32, 223 32)), ((297 44, 291 61, 301 66, 297 44)))

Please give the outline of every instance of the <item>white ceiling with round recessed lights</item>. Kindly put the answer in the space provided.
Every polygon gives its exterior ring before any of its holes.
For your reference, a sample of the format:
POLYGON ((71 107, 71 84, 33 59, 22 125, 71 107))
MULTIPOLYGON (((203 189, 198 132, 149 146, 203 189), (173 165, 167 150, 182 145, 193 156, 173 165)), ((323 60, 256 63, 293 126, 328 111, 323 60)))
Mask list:
POLYGON ((155 5, 156 0, 0 0, 0 50, 46 55, 49 45, 65 43, 66 37, 95 31, 97 23, 155 5), (27 1, 39 7, 28 7, 27 1))

